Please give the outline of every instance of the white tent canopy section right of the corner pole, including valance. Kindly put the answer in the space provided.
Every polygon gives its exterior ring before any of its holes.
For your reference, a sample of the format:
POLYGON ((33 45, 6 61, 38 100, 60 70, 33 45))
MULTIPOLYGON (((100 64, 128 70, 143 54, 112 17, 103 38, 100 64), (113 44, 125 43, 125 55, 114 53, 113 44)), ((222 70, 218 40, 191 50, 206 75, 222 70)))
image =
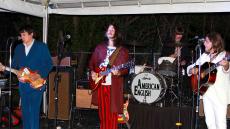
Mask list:
POLYGON ((230 12, 230 0, 50 0, 49 7, 65 15, 230 12))

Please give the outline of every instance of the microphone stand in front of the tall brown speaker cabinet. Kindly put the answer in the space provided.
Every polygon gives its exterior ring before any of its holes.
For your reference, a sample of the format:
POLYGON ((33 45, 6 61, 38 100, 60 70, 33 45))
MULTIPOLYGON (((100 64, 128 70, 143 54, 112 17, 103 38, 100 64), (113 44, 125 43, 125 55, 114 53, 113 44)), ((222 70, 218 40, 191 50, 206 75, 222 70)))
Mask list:
POLYGON ((58 87, 59 87, 59 81, 61 80, 61 76, 59 75, 59 66, 61 63, 61 59, 63 57, 63 49, 64 49, 64 41, 58 41, 57 42, 57 66, 55 69, 55 76, 54 76, 54 103, 55 103, 55 128, 58 129, 60 126, 57 126, 57 119, 58 119, 58 87))

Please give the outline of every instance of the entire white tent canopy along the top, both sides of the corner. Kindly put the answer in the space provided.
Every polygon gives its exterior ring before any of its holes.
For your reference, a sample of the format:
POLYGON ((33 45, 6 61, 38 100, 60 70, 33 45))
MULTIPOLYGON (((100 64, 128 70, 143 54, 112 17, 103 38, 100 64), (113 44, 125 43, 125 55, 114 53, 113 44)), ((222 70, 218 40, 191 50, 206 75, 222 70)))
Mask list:
POLYGON ((230 0, 0 0, 0 9, 49 14, 113 15, 230 12, 230 0))

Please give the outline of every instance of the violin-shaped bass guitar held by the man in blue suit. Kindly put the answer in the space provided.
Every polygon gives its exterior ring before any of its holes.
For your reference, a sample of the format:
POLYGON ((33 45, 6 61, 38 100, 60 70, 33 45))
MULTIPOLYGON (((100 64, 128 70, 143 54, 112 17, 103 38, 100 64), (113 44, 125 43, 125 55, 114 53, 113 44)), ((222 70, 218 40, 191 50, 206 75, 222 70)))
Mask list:
MULTIPOLYGON (((0 67, 4 67, 4 66, 0 63, 0 67)), ((41 77, 34 79, 33 76, 37 76, 38 73, 30 70, 27 67, 21 68, 19 70, 12 69, 12 68, 10 69, 9 67, 5 67, 5 70, 12 72, 15 75, 18 75, 18 73, 21 72, 19 81, 30 83, 31 87, 34 89, 39 89, 41 86, 43 86, 46 83, 46 80, 41 77)))

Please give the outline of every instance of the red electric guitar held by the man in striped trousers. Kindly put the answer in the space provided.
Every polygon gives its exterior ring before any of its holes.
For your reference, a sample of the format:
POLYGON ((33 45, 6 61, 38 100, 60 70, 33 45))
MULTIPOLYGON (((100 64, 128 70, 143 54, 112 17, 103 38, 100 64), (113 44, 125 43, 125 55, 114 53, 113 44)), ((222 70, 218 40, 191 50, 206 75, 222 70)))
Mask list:
POLYGON ((95 91, 99 85, 101 85, 101 83, 105 82, 105 77, 106 75, 108 75, 109 73, 112 72, 112 70, 120 70, 120 69, 124 69, 124 68, 129 68, 129 67, 133 67, 134 66, 134 61, 129 61, 125 64, 121 64, 112 68, 96 68, 95 72, 96 72, 96 78, 92 79, 92 77, 90 76, 90 87, 91 87, 91 92, 95 91))

